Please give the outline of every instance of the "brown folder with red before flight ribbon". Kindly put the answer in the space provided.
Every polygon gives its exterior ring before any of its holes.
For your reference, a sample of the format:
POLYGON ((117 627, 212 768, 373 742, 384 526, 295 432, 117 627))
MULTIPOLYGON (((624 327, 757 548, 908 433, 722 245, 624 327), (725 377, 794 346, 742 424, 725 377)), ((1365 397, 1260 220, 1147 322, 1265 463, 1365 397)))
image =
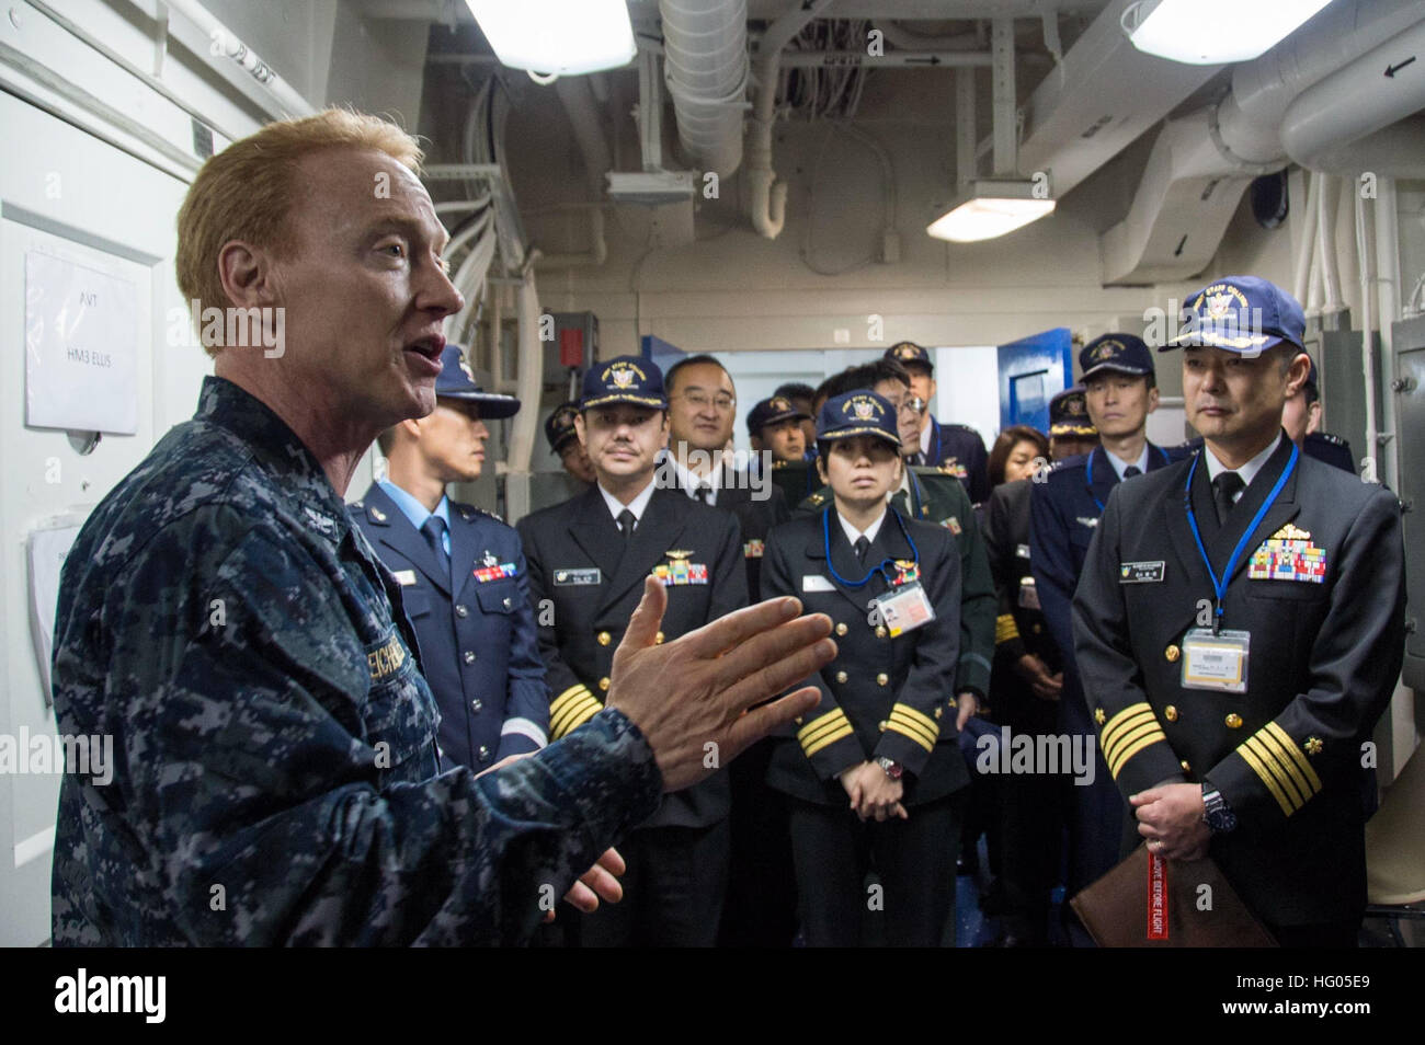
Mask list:
POLYGON ((1164 860, 1139 846, 1069 903, 1099 947, 1277 945, 1211 858, 1164 860))

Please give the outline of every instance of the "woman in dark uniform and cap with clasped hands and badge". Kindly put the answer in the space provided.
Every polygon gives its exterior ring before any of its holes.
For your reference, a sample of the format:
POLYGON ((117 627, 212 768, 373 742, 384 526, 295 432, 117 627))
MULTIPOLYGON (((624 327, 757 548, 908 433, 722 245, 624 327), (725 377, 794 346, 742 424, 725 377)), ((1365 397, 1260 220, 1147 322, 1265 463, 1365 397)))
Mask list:
POLYGON ((768 783, 791 796, 808 944, 940 942, 963 789, 953 683, 960 572, 953 535, 888 507, 905 467, 895 407, 835 396, 817 424, 834 504, 772 531, 768 597, 832 616, 838 658, 808 681, 819 706, 779 743, 768 783), (868 890, 865 876, 879 874, 868 890), (865 918, 882 920, 879 930, 865 918))

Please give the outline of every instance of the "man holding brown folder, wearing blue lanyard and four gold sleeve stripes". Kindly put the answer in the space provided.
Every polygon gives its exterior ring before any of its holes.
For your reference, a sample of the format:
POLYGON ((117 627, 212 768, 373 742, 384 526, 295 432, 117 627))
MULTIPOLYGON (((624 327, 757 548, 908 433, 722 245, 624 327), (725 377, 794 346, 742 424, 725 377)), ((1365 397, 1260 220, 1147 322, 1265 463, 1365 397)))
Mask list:
POLYGON ((1282 945, 1354 945, 1361 736, 1404 655, 1399 503, 1281 429, 1301 306, 1253 276, 1188 299, 1190 460, 1112 491, 1074 597, 1079 671, 1149 851, 1210 854, 1282 945))

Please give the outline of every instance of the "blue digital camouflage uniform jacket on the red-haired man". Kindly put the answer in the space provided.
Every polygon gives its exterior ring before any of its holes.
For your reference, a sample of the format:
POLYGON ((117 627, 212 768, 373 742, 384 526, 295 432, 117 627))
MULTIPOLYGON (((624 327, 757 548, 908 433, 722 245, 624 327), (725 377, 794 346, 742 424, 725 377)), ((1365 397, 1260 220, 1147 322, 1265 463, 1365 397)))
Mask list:
POLYGON ((604 710, 499 773, 440 773, 415 649, 312 453, 208 377, 61 577, 58 728, 113 735, 115 766, 63 780, 54 942, 527 941, 657 809, 653 752, 604 710))

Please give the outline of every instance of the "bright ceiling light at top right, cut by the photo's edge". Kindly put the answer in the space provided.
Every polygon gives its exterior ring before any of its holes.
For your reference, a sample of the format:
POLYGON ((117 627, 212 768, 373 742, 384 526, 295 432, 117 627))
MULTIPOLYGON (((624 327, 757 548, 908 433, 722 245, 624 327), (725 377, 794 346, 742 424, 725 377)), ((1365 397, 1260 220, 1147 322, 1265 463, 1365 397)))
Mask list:
POLYGON ((1248 61, 1291 36, 1331 0, 1140 0, 1123 30, 1146 54, 1188 65, 1248 61))

